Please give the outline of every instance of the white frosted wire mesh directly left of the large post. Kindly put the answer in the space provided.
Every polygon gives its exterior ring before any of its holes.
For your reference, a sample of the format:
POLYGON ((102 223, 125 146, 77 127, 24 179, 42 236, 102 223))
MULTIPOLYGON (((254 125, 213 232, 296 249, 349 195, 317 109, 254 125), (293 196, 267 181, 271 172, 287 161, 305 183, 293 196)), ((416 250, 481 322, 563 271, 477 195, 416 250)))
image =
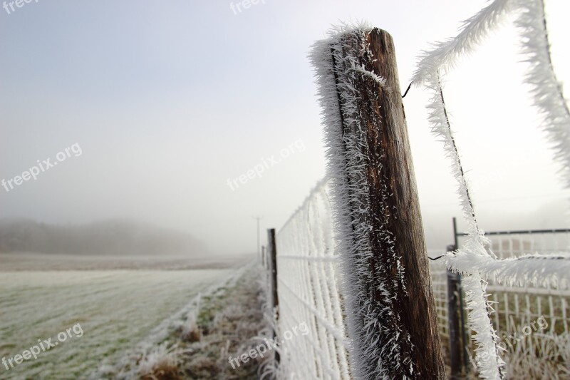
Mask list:
POLYGON ((310 331, 283 340, 279 379, 351 379, 329 192, 318 183, 276 235, 277 335, 303 323, 310 331))

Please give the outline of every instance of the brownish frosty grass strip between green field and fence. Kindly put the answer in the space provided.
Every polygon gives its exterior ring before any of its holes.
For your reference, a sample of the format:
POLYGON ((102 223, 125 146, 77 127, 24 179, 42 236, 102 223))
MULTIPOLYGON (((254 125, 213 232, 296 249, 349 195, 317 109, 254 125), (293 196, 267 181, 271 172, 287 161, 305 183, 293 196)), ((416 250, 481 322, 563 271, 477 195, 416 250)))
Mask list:
POLYGON ((258 379, 262 359, 235 369, 228 362, 269 333, 258 270, 245 267, 199 294, 115 364, 100 366, 91 379, 258 379))

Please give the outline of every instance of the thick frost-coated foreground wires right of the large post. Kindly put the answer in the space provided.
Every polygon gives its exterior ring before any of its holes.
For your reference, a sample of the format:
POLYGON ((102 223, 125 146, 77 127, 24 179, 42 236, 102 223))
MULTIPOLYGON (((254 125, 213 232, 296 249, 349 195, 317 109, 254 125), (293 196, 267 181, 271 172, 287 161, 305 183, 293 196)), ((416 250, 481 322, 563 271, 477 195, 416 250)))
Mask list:
MULTIPOLYGON (((512 16, 520 31, 521 52, 529 64, 524 81, 529 84, 534 106, 541 115, 540 127, 554 148, 555 160, 562 166, 561 180, 569 188, 570 111, 551 62, 543 0, 490 2, 465 21, 457 36, 435 43, 434 48, 425 51, 413 76, 416 86, 424 86, 432 94, 432 100, 427 106, 432 132, 444 143, 445 152, 452 163, 452 173, 457 179, 463 215, 469 223, 465 241, 460 249, 447 252, 445 265, 447 269, 464 274, 462 285, 469 309, 469 325, 476 343, 475 361, 479 375, 484 379, 504 379, 506 376, 504 361, 501 359, 504 347, 500 344, 494 325, 498 319, 493 322, 495 304, 489 299, 487 291, 490 289, 485 280, 491 279, 494 284, 501 284, 504 290, 507 287, 567 289, 570 279, 570 255, 564 252, 545 255, 545 252, 528 251, 528 255, 521 257, 497 256, 478 224, 459 155, 460 148, 455 143, 452 124, 448 118, 442 78, 457 66, 462 56, 482 43, 507 16, 512 16)), ((510 307, 508 301, 507 304, 510 307)), ((570 345, 564 347, 558 353, 567 358, 570 345)), ((540 373, 537 375, 542 376, 540 373)))

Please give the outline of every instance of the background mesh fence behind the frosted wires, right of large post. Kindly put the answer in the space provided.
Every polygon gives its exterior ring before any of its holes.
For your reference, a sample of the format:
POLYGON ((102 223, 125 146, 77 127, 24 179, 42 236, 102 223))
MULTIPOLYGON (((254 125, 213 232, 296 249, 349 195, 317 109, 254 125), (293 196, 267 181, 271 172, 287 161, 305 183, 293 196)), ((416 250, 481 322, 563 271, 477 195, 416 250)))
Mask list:
MULTIPOLYGON (((532 252, 557 257, 570 253, 570 229, 486 232, 489 247, 501 259, 524 257, 532 252)), ((466 238, 458 233, 461 246, 466 238)), ((432 252, 432 255, 440 255, 432 252)), ((430 275, 434 286, 437 324, 442 342, 449 345, 447 315, 446 269, 440 262, 431 262, 430 275)), ((529 376, 529 371, 555 379, 569 375, 570 351, 570 289, 551 287, 539 280, 533 284, 505 285, 487 279, 489 302, 492 303, 492 324, 497 332, 501 356, 507 363, 511 378, 529 376)), ((467 365, 475 367, 475 347, 467 340, 467 365)), ((462 350, 460 350, 462 351, 462 350)))

